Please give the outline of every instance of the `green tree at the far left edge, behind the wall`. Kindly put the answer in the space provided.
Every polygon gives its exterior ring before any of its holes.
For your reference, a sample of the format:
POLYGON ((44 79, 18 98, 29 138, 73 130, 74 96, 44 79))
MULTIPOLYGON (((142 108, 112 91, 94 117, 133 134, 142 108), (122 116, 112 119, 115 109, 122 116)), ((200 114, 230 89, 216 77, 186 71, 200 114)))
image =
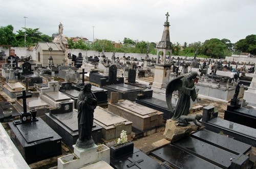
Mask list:
POLYGON ((12 25, 0 27, 0 44, 16 46, 16 39, 12 25))

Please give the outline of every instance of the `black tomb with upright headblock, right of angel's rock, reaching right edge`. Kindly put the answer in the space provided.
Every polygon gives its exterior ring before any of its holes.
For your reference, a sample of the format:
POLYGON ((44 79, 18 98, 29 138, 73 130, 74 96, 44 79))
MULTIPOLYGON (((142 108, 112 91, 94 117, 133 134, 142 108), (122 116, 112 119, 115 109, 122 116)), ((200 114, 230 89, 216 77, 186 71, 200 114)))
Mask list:
POLYGON ((214 110, 214 106, 206 106, 203 108, 203 117, 201 123, 207 130, 216 133, 224 133, 234 137, 240 142, 251 146, 256 146, 256 130, 238 123, 218 118, 218 111, 214 110))

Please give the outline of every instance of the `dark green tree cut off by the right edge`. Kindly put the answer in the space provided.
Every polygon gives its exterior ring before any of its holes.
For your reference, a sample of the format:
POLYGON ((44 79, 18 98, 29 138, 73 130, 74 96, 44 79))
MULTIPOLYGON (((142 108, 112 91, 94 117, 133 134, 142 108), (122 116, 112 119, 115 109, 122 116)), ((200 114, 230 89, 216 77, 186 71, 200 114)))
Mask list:
POLYGON ((256 35, 248 35, 245 39, 240 39, 234 44, 236 51, 249 52, 253 55, 256 54, 256 35))

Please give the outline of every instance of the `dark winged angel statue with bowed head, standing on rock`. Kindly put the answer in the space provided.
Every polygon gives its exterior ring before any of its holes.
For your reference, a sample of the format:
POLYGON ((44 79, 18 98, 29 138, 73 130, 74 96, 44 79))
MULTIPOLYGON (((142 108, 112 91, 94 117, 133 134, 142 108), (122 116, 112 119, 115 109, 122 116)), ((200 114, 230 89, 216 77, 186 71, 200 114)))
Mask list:
POLYGON ((195 90, 194 80, 197 80, 198 73, 191 71, 184 76, 178 76, 171 80, 166 87, 166 103, 171 112, 174 114, 172 120, 179 120, 182 115, 187 115, 190 107, 190 97, 193 101, 197 99, 197 93, 195 90), (172 95, 173 92, 179 91, 179 100, 175 111, 172 107, 172 95))

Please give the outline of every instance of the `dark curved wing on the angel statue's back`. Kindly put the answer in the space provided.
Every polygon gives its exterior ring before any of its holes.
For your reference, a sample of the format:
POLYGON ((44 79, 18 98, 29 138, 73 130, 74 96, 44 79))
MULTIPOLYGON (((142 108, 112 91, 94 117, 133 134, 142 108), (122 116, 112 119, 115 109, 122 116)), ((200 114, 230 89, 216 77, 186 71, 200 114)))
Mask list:
POLYGON ((174 91, 181 91, 182 88, 182 80, 181 78, 183 78, 184 76, 178 76, 175 79, 171 80, 167 87, 166 87, 166 91, 165 91, 165 97, 166 97, 166 103, 167 106, 170 110, 170 112, 174 112, 173 111, 173 106, 172 106, 172 96, 173 96, 173 92, 174 91))

